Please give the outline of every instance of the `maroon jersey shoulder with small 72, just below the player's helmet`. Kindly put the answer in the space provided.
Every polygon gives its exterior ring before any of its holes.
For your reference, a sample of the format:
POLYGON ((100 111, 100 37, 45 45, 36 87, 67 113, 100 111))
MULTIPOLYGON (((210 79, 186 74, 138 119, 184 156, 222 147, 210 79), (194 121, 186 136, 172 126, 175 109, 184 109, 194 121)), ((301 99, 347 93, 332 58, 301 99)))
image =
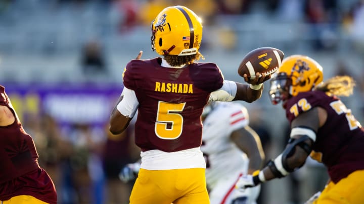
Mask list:
POLYGON ((292 121, 300 113, 311 110, 321 104, 323 97, 327 95, 322 91, 309 91, 299 93, 287 101, 286 116, 292 121))

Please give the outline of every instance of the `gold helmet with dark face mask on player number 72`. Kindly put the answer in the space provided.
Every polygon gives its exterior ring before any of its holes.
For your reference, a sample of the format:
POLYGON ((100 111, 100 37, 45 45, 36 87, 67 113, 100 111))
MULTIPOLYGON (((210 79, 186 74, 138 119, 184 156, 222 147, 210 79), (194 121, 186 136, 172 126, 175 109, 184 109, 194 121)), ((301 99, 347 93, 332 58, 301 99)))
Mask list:
POLYGON ((270 80, 269 95, 273 104, 282 100, 282 92, 290 96, 313 90, 323 81, 322 66, 304 55, 291 55, 282 61, 275 76, 270 80))

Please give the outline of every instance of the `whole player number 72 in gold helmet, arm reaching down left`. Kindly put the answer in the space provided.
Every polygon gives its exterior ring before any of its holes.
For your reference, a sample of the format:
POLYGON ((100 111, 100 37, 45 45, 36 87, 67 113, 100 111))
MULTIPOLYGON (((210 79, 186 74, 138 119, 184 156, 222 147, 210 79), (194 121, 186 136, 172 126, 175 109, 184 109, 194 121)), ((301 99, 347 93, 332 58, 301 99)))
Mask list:
POLYGON ((364 203, 364 129, 338 96, 352 94, 351 77, 323 82, 319 63, 292 55, 272 77, 272 103, 283 102, 291 125, 286 149, 253 175, 241 177, 238 188, 281 178, 304 165, 311 156, 325 164, 330 180, 307 203, 364 203))

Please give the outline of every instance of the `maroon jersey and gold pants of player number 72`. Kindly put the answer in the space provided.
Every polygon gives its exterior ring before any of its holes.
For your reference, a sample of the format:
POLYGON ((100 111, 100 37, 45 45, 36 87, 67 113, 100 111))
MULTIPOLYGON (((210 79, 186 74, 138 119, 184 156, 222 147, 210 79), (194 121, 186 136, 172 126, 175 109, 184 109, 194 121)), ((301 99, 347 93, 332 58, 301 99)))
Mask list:
POLYGON ((287 101, 290 122, 313 107, 327 111, 326 123, 319 128, 311 158, 328 169, 331 182, 313 203, 363 203, 364 129, 339 98, 323 91, 299 93, 287 101))

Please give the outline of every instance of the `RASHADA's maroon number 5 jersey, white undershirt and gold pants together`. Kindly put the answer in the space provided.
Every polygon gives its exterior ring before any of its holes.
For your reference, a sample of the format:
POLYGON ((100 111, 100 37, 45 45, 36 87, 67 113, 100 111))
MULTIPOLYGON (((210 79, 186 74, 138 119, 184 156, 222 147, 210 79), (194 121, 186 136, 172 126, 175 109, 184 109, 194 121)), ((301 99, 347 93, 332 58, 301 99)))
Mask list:
POLYGON ((210 93, 223 86, 222 74, 213 63, 161 63, 131 60, 124 72, 124 86, 139 103, 135 143, 142 149, 130 203, 209 203, 201 114, 210 93))

